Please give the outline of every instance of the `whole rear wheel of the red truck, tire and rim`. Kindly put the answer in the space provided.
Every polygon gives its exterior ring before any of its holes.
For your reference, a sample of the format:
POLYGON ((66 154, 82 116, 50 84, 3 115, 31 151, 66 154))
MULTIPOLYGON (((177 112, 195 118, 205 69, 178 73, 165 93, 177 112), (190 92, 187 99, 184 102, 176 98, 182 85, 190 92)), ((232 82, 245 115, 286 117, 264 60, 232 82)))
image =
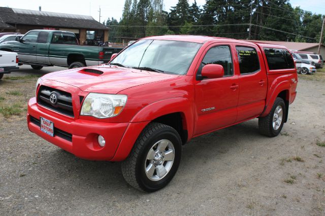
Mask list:
POLYGON ((259 132, 270 137, 277 136, 283 127, 285 115, 284 100, 277 97, 269 115, 258 119, 259 132))

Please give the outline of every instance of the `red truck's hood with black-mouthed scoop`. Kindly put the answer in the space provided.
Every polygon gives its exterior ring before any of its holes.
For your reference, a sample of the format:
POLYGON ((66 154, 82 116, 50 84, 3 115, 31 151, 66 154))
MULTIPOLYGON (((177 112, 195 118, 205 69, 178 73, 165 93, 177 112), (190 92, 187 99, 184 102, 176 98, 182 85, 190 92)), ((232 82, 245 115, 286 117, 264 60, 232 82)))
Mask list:
POLYGON ((127 88, 176 77, 179 75, 160 74, 114 65, 100 65, 57 71, 43 76, 42 80, 65 83, 86 92, 117 94, 127 88))

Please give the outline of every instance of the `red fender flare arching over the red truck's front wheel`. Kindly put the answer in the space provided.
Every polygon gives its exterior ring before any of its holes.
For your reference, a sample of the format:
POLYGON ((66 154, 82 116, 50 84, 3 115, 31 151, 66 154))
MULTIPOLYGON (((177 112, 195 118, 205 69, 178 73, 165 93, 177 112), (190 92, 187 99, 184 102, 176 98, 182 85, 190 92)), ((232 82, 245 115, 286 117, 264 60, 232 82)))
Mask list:
POLYGON ((143 107, 130 121, 129 126, 116 149, 112 161, 124 160, 131 152, 134 143, 143 129, 154 119, 172 114, 181 113, 183 128, 188 130, 188 137, 192 136, 194 127, 194 112, 190 101, 185 97, 175 97, 159 100, 143 107))

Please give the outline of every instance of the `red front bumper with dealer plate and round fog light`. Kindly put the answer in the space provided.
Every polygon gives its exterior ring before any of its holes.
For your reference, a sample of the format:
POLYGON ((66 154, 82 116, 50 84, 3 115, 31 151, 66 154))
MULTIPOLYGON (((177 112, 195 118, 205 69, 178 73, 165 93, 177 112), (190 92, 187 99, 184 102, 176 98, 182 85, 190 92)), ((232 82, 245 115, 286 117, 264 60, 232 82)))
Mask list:
POLYGON ((83 159, 111 160, 129 124, 72 120, 38 105, 35 97, 28 101, 28 129, 61 149, 83 159), (54 123, 53 137, 41 131, 36 121, 40 120, 40 117, 54 123), (104 136, 105 147, 99 146, 98 135, 104 136))

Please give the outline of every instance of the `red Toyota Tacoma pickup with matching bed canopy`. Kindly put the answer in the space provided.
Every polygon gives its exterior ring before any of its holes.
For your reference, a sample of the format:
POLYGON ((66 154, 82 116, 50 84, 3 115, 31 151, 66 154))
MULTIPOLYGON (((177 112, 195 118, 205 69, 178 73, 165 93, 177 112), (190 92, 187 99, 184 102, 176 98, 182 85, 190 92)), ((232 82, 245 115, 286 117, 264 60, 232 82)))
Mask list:
POLYGON ((283 46, 149 37, 108 64, 40 78, 27 123, 77 157, 123 161, 126 182, 151 192, 171 181, 193 137, 253 118, 262 134, 278 135, 297 81, 283 46))

